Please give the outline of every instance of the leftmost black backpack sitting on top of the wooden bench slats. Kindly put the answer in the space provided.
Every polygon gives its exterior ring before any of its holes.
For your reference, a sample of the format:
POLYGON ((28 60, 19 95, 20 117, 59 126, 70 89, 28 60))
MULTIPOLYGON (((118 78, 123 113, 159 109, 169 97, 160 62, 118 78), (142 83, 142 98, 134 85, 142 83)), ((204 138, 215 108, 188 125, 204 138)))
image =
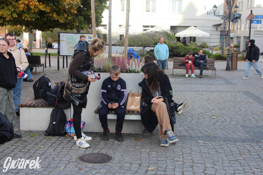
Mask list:
POLYGON ((51 89, 51 82, 49 80, 49 78, 45 77, 45 75, 43 75, 42 77, 40 77, 34 84, 33 84, 33 89, 34 89, 34 98, 35 100, 37 99, 42 99, 41 95, 40 95, 40 91, 41 89, 44 88, 49 88, 51 89))

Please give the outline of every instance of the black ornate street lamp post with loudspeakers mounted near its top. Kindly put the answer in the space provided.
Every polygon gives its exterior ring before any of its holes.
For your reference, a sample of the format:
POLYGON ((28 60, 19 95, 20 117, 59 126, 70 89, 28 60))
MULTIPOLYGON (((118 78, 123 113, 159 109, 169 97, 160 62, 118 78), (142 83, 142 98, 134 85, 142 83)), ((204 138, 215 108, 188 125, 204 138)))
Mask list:
MULTIPOLYGON (((231 12, 232 12, 232 8, 234 6, 234 2, 235 0, 225 0, 226 1, 226 6, 227 6, 227 9, 228 9, 228 14, 225 14, 225 15, 216 15, 215 12, 216 12, 216 5, 214 5, 213 7, 213 11, 214 11, 214 16, 216 17, 219 17, 223 20, 228 20, 228 43, 227 43, 227 60, 226 60, 226 71, 229 71, 230 70, 230 16, 231 16, 231 12)), ((236 12, 237 11, 237 8, 238 6, 236 5, 234 7, 234 11, 236 12)))

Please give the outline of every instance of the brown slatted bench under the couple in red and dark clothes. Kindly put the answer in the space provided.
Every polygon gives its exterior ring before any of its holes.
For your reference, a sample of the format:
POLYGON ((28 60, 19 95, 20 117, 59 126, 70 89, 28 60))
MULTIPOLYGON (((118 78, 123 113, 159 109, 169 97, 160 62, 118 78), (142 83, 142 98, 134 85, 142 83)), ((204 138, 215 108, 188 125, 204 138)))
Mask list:
MULTIPOLYGON (((209 65, 209 68, 205 68, 204 70, 213 70, 215 71, 215 59, 214 58, 207 58, 206 64, 209 65)), ((186 69, 185 66, 180 66, 179 64, 183 64, 184 57, 174 57, 174 64, 173 64, 173 75, 174 75, 174 69, 186 69)), ((191 69, 191 68, 190 68, 191 69)), ((195 67, 195 70, 200 70, 200 67, 195 67)))

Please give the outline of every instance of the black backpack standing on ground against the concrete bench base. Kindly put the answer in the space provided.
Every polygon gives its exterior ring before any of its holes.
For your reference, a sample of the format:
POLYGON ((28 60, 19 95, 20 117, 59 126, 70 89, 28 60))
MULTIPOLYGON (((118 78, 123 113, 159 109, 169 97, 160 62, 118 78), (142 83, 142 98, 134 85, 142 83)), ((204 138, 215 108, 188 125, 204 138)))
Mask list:
POLYGON ((48 129, 45 131, 46 136, 61 136, 65 135, 64 128, 67 122, 66 114, 63 109, 54 108, 50 115, 48 129))

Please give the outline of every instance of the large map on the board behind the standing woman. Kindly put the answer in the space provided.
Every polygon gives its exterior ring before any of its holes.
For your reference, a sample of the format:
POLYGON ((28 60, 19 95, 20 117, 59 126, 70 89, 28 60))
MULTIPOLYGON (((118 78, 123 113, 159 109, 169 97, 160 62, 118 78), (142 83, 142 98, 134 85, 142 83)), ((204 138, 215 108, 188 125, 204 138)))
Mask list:
POLYGON ((59 55, 62 56, 72 56, 74 53, 74 47, 79 42, 79 36, 84 35, 86 37, 86 41, 90 43, 93 39, 92 34, 85 33, 60 33, 59 38, 59 55))

